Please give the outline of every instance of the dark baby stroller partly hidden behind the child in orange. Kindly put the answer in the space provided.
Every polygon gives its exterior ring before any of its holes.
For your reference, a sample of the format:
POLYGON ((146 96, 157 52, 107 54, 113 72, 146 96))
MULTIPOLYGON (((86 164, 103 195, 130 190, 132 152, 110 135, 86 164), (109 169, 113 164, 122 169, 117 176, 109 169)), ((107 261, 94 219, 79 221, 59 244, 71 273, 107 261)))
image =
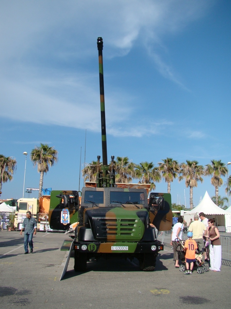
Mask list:
MULTIPOLYGON (((178 253, 178 259, 181 261, 181 265, 179 267, 180 271, 185 271, 186 270, 186 265, 185 265, 185 251, 184 251, 184 240, 181 239, 175 239, 177 242, 177 247, 176 247, 176 252, 178 253)), ((196 251, 196 261, 194 262, 195 268, 197 268, 197 273, 204 273, 209 271, 209 266, 204 265, 204 255, 202 255, 201 262, 199 261, 198 257, 201 252, 196 251)))

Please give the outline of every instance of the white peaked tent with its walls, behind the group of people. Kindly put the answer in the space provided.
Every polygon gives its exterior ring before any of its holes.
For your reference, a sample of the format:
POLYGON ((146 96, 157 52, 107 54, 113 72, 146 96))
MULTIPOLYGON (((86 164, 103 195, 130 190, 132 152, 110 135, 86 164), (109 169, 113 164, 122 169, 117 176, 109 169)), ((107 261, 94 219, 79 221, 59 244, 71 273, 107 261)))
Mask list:
POLYGON ((184 220, 189 222, 191 218, 193 219, 194 214, 199 214, 200 212, 203 212, 207 218, 215 218, 214 225, 225 226, 226 231, 231 232, 231 212, 228 212, 213 203, 207 191, 205 192, 201 203, 184 214, 184 220))

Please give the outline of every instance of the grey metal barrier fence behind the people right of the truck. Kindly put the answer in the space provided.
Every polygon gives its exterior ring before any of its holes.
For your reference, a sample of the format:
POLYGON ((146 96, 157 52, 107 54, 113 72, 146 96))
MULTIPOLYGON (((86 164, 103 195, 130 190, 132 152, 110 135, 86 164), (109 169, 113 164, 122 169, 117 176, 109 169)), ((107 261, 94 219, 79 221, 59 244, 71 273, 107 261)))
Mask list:
MULTIPOLYGON (((156 237, 165 246, 171 247, 171 234, 170 231, 161 231, 156 230, 156 237)), ((183 232, 183 239, 187 239, 187 231, 183 232)), ((221 240, 221 260, 223 265, 231 266, 231 235, 230 233, 220 232, 220 240, 221 240)))

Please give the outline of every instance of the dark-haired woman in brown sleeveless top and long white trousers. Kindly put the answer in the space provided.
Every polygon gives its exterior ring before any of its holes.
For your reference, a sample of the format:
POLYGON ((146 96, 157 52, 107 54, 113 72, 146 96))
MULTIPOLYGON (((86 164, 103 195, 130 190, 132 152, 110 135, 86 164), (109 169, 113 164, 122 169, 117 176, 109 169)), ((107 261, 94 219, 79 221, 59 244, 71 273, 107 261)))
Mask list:
POLYGON ((221 241, 219 239, 220 234, 218 228, 214 226, 213 219, 208 220, 209 224, 209 240, 211 244, 209 246, 209 257, 210 257, 210 270, 220 271, 221 270, 221 241))

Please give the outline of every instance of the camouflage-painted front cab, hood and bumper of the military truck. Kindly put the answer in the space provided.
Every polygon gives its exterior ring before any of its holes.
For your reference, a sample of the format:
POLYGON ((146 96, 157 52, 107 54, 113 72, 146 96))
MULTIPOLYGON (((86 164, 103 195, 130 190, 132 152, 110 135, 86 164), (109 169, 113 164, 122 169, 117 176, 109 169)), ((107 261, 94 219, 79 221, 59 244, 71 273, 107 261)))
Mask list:
MULTIPOLYGON (((92 195, 93 196, 93 195, 92 195)), ((160 241, 156 239, 155 231, 150 226, 148 212, 148 196, 146 189, 129 188, 83 188, 80 214, 83 222, 78 225, 77 237, 74 241, 75 250, 83 252, 81 246, 86 244, 84 252, 95 256, 98 253, 142 253, 153 252, 156 245, 158 252, 163 250, 160 241), (94 205, 84 202, 86 193, 103 192, 102 203, 94 205), (140 193, 144 196, 143 204, 110 204, 110 193, 140 193), (98 207, 97 207, 98 206, 98 207), (79 246, 79 249, 77 249, 79 246), (89 248, 88 248, 89 246, 89 248), (158 248, 158 246, 161 248, 158 248), (112 250, 112 248, 117 248, 112 250), (120 250, 120 248, 122 248, 120 250)))

